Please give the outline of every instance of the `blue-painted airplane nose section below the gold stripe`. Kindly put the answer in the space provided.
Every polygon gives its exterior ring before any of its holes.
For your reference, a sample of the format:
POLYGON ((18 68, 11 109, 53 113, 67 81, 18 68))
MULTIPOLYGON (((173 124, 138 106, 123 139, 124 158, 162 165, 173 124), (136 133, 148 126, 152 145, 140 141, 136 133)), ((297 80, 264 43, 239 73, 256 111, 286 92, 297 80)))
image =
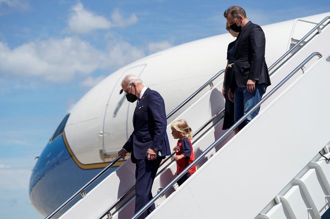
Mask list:
MULTIPOLYGON (((33 207, 44 217, 57 209, 67 199, 96 176, 101 169, 81 169, 78 167, 66 148, 64 127, 68 119, 66 115, 56 129, 48 144, 38 157, 32 170, 29 182, 29 196, 33 207)), ((110 172, 109 172, 110 173, 110 172)), ((100 177, 100 182, 107 175, 100 177)), ((86 193, 92 186, 86 190, 86 193)), ((66 211, 78 199, 74 199, 64 207, 66 211)))

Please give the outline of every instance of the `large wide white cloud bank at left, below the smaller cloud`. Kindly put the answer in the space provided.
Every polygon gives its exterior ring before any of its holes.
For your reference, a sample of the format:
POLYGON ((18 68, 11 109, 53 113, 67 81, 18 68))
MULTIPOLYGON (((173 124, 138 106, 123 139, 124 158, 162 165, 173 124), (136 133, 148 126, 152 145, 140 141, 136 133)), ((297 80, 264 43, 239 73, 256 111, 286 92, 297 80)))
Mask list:
MULTIPOLYGON (((167 43, 161 44, 150 48, 155 51, 156 47, 167 47, 167 43)), ((16 79, 10 87, 1 87, 0 93, 37 88, 36 79, 53 83, 78 79, 81 86, 92 86, 102 79, 91 76, 95 71, 111 73, 144 56, 142 48, 121 40, 111 40, 104 51, 74 37, 29 42, 13 49, 0 42, 0 85, 16 79)))

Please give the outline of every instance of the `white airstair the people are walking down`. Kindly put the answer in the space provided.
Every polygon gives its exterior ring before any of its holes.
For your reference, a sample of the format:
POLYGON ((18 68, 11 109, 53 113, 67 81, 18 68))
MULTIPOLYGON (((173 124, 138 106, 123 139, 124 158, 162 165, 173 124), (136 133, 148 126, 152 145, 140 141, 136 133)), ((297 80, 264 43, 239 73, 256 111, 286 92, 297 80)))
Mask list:
POLYGON ((257 105, 259 115, 237 135, 233 129, 244 117, 222 130, 222 71, 204 84, 197 100, 193 94, 184 102, 193 104, 170 113, 168 124, 182 118, 195 130, 196 160, 190 166, 196 164, 197 172, 178 189, 173 185, 184 172, 176 177, 169 156, 155 178, 154 198, 134 215, 135 167, 126 161, 88 194, 78 191, 74 196, 83 198, 60 218, 137 218, 153 202, 148 218, 169 212, 180 218, 321 218, 330 206, 329 18, 269 67, 272 85, 257 105))

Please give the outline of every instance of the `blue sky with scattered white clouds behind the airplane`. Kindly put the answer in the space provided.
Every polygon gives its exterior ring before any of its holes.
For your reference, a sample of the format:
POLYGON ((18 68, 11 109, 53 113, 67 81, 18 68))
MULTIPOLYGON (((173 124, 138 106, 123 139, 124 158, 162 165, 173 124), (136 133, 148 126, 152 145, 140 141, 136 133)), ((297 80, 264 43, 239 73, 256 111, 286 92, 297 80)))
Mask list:
POLYGON ((84 93, 134 60, 224 33, 231 4, 260 25, 330 11, 328 0, 0 0, 0 218, 42 218, 28 198, 34 157, 84 93))

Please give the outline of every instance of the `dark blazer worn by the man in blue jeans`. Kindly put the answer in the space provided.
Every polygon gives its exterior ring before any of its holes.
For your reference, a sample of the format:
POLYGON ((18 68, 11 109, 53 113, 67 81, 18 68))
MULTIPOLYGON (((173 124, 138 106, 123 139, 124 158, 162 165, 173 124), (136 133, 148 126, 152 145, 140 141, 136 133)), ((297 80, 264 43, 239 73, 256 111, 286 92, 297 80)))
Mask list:
POLYGON ((236 42, 233 66, 236 86, 246 87, 248 79, 255 80, 256 84, 270 85, 268 68, 264 59, 265 43, 261 27, 248 21, 240 31, 236 42))

